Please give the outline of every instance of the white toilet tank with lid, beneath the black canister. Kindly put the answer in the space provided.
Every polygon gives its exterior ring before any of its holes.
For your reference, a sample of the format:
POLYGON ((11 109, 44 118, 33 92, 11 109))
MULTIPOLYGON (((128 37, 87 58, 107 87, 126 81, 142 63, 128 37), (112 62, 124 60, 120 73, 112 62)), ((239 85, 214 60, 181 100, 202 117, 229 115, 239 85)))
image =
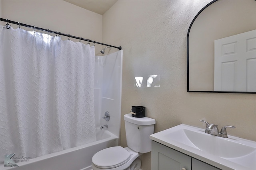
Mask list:
POLYGON ((151 151, 151 139, 149 135, 154 133, 155 119, 149 117, 132 117, 132 114, 124 115, 126 142, 130 149, 146 153, 151 151))

